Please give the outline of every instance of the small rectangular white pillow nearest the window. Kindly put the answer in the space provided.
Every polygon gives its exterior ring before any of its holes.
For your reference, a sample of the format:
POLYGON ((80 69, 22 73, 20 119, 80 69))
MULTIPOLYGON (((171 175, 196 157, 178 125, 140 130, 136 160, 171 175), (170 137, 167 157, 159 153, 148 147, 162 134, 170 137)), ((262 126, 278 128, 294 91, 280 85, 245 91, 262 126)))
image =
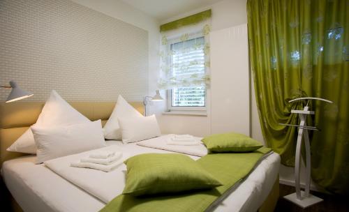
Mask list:
POLYGON ((119 119, 119 124, 122 131, 122 142, 124 143, 139 142, 161 135, 155 115, 119 119))

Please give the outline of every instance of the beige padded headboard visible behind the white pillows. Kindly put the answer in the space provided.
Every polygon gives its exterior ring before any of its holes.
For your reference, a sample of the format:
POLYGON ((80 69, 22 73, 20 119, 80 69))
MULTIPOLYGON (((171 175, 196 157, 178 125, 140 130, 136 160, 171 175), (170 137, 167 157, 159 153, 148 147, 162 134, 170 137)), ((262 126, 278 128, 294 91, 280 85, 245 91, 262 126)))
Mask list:
MULTIPOLYGON (((144 114, 142 103, 130 103, 140 113, 144 114)), ((5 160, 24 156, 24 153, 6 151, 8 146, 23 134, 29 126, 36 123, 45 103, 40 102, 15 102, 0 103, 0 167, 5 160)), ((109 119, 115 103, 70 103, 77 111, 91 121, 102 120, 103 125, 109 119)))

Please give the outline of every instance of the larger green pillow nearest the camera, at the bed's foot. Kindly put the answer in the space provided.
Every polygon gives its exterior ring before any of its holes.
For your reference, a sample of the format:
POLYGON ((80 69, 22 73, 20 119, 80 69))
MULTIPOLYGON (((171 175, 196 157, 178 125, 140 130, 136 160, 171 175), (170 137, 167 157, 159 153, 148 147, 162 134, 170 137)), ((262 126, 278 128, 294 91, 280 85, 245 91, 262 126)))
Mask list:
POLYGON ((222 185, 198 162, 179 153, 146 153, 125 161, 124 195, 154 195, 222 185))

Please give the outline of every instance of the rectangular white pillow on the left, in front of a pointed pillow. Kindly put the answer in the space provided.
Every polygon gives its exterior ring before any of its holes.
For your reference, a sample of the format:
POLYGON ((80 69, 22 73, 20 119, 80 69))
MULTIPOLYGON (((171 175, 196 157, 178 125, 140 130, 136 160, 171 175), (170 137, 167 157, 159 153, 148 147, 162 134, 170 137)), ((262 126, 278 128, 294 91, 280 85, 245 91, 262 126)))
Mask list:
POLYGON ((101 120, 70 126, 31 126, 37 163, 105 146, 101 120))

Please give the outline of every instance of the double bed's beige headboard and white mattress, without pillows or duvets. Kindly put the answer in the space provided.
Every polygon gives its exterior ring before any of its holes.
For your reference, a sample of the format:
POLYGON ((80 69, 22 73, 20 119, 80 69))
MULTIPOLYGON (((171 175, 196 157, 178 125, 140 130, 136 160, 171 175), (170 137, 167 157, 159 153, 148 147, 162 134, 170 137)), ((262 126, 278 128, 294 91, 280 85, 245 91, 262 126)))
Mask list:
MULTIPOLYGON (((45 165, 35 165, 36 156, 10 153, 6 148, 36 122, 44 103, 0 105, 1 176, 11 195, 24 211, 99 211, 105 202, 61 178, 45 165)), ((110 116, 114 103, 71 103, 91 120, 110 116)), ((142 103, 131 103, 143 112, 142 103)), ((107 141, 135 153, 166 153, 119 141, 107 141)), ((197 159, 196 156, 191 156, 197 159)), ((253 169, 244 181, 231 188, 230 195, 213 211, 273 211, 279 197, 280 157, 271 153, 253 169)), ((14 207, 15 208, 15 207, 14 207)))

